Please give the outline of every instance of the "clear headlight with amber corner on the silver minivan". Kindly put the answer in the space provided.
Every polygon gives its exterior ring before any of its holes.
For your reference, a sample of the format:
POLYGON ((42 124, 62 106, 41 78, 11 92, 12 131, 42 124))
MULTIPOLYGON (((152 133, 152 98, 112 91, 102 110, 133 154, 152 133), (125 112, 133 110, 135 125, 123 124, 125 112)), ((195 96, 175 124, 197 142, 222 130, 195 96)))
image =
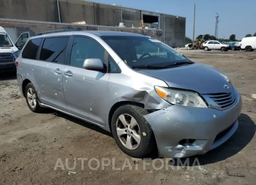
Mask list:
POLYGON ((155 86, 155 90, 160 97, 173 105, 178 104, 183 106, 207 107, 203 99, 195 92, 173 90, 159 86, 155 86))

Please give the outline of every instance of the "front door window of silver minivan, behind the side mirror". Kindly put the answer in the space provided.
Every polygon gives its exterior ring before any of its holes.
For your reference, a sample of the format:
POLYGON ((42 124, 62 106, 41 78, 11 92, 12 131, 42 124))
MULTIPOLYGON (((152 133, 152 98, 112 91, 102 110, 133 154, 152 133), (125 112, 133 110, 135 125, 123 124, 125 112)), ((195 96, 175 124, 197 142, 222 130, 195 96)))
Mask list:
POLYGON ((99 58, 104 61, 104 49, 94 40, 85 37, 74 37, 70 55, 70 65, 83 67, 87 58, 99 58))

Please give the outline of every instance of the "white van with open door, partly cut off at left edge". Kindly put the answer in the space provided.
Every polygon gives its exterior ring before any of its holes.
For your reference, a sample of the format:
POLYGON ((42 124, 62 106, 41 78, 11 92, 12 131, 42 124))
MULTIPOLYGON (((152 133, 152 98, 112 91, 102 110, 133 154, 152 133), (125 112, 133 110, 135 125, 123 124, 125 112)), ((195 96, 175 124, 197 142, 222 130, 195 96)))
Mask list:
POLYGON ((29 37, 29 32, 23 32, 14 44, 7 31, 0 26, 0 72, 16 70, 15 60, 29 37))

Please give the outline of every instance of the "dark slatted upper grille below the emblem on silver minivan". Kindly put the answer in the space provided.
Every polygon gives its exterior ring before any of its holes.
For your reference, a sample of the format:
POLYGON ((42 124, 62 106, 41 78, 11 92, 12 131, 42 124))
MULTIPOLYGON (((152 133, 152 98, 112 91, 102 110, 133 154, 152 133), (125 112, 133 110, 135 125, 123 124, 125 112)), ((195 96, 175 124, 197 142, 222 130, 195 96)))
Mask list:
POLYGON ((232 88, 231 92, 222 92, 215 94, 208 94, 209 98, 211 98, 221 109, 228 109, 230 106, 236 103, 237 97, 235 89, 232 88))

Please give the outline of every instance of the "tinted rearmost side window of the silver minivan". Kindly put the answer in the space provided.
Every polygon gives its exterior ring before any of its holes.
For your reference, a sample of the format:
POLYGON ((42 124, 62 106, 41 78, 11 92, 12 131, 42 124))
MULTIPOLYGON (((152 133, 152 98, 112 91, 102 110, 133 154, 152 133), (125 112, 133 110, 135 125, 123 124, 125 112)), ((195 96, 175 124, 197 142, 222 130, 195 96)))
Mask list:
POLYGON ((29 40, 27 45, 25 46, 23 52, 21 53, 21 57, 35 60, 36 53, 39 49, 42 39, 43 38, 35 38, 35 39, 29 40))

